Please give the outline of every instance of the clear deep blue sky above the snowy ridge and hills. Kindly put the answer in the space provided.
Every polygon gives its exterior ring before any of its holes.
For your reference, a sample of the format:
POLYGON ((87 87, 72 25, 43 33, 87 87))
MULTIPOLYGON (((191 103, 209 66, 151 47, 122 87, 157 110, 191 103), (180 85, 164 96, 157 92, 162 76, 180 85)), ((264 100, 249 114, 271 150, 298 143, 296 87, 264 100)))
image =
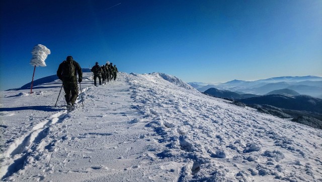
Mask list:
POLYGON ((185 82, 322 76, 322 1, 1 1, 1 87, 32 79, 31 50, 51 50, 35 79, 71 55, 185 82))

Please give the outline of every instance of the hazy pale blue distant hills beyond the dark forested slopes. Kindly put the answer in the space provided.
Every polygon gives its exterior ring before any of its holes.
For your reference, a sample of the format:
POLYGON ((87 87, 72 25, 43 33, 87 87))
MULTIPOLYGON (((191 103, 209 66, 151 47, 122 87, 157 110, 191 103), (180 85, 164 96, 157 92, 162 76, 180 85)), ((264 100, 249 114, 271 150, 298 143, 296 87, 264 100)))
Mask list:
MULTIPOLYGON (((189 83, 190 84, 190 83, 189 83)), ((209 88, 219 90, 228 90, 236 93, 260 94, 264 95, 274 90, 291 89, 301 95, 310 95, 312 97, 322 98, 322 77, 304 76, 304 77, 275 77, 257 81, 232 80, 221 84, 209 84, 202 86, 191 84, 200 92, 209 88)))

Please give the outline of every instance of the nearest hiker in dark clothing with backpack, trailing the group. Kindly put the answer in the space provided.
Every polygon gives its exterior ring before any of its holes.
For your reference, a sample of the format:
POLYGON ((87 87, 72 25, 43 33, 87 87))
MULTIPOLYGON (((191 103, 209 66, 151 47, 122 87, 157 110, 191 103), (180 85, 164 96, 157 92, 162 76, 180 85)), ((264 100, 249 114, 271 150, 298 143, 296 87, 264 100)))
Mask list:
POLYGON ((83 80, 82 68, 73 60, 72 56, 68 55, 57 70, 57 77, 62 81, 64 87, 67 109, 74 107, 75 100, 78 97, 77 73, 78 82, 81 83, 83 80))

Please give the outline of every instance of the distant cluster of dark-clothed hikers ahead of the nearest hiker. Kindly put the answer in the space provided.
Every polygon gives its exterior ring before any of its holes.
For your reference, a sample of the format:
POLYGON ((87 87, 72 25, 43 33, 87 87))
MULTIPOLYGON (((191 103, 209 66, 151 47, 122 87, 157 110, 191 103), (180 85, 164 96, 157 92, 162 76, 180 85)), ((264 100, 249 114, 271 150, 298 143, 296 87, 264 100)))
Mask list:
POLYGON ((98 62, 95 63, 95 66, 91 69, 94 74, 94 85, 97 85, 97 78, 99 79, 99 84, 102 85, 102 82, 106 84, 111 80, 115 80, 117 73, 119 72, 116 68, 116 65, 113 66, 113 63, 106 63, 105 65, 100 66, 98 62))

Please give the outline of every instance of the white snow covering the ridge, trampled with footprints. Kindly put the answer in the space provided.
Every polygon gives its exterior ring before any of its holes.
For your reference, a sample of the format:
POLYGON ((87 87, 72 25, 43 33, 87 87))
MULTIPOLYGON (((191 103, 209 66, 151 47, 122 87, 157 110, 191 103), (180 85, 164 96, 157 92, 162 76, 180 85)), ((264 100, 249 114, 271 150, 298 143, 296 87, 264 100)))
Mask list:
MULTIPOLYGON (((4 181, 320 181, 322 134, 162 74, 119 73, 67 112, 59 80, 1 92, 4 181)), ((80 92, 79 92, 80 93, 80 92)))

